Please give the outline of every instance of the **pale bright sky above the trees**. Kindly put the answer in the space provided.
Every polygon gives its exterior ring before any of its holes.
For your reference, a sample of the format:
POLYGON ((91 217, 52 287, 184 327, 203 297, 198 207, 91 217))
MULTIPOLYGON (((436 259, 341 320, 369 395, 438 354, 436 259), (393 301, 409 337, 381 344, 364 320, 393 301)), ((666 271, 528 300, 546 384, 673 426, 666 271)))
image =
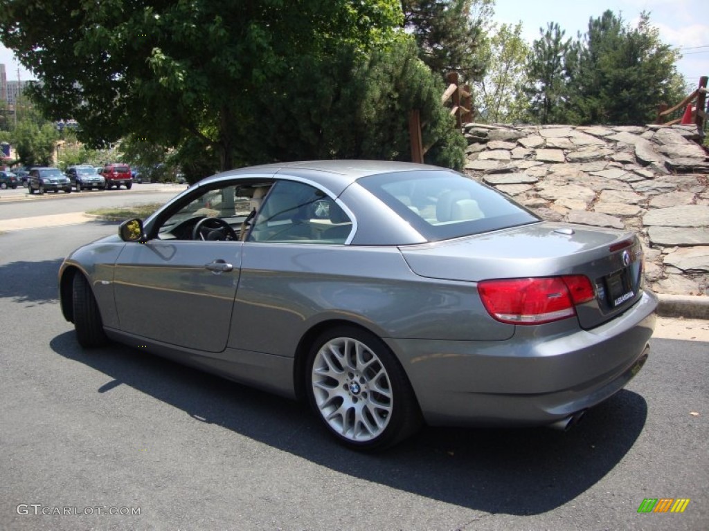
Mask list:
MULTIPOLYGON (((586 33, 588 19, 598 18, 610 9, 631 25, 636 25, 642 11, 649 11, 650 23, 659 29, 662 42, 678 48, 682 54, 680 74, 691 84, 709 75, 709 1, 708 0, 603 0, 595 4, 582 0, 496 0, 496 23, 523 24, 523 35, 529 41, 539 38, 539 28, 556 22, 566 36, 586 33)), ((16 61, 11 50, 0 45, 0 63, 5 64, 9 80, 35 76, 16 61)))

